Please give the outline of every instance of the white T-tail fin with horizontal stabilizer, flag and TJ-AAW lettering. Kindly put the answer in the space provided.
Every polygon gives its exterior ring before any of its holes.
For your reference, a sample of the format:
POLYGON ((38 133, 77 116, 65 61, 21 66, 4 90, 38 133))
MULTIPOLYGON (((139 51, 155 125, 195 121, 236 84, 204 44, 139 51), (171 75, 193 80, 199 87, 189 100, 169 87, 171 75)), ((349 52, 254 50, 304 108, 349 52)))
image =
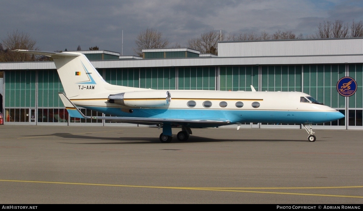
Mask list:
POLYGON ((56 53, 35 50, 14 50, 22 53, 52 57, 68 97, 106 92, 112 86, 103 80, 91 62, 82 53, 56 53))

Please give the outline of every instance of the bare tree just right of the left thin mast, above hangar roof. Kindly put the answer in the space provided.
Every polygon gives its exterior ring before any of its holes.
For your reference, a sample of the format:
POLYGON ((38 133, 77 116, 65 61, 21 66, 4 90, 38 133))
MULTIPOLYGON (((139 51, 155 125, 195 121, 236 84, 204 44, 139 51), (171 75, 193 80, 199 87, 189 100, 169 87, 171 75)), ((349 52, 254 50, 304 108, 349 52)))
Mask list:
POLYGON ((138 56, 142 56, 142 49, 165 48, 169 43, 167 38, 163 38, 162 32, 158 32, 156 29, 147 28, 145 31, 140 32, 136 37, 136 48, 134 48, 134 52, 138 56))

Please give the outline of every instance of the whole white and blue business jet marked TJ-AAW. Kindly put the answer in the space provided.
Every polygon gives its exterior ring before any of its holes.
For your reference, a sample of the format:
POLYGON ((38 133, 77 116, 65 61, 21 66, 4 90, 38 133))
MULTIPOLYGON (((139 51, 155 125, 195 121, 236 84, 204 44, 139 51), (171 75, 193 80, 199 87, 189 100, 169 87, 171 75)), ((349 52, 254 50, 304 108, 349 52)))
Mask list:
POLYGON ((256 92, 252 86, 252 92, 117 86, 103 80, 82 53, 15 51, 53 58, 65 91, 59 96, 71 117, 159 125, 163 143, 171 142, 174 126, 181 126, 178 140, 186 141, 191 128, 236 124, 238 130, 244 122, 302 124, 309 133, 308 140, 314 142, 312 124, 344 117, 302 92, 256 92), (77 106, 114 117, 85 116, 77 106))

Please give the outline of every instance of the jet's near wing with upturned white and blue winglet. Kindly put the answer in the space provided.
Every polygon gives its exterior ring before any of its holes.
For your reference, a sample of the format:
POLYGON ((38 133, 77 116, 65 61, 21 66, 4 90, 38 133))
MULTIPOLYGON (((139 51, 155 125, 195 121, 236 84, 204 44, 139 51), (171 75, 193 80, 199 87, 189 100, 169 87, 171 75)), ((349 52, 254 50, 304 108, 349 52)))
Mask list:
POLYGON ((66 107, 69 115, 75 118, 86 118, 86 119, 106 119, 114 121, 122 121, 127 123, 154 125, 154 124, 164 124, 171 123, 173 125, 184 125, 188 123, 192 124, 228 124, 231 121, 228 119, 221 118, 204 118, 204 119, 166 119, 166 118, 144 118, 144 117, 93 117, 85 116, 82 112, 73 104, 72 101, 62 92, 59 92, 59 97, 61 98, 64 106, 66 107))

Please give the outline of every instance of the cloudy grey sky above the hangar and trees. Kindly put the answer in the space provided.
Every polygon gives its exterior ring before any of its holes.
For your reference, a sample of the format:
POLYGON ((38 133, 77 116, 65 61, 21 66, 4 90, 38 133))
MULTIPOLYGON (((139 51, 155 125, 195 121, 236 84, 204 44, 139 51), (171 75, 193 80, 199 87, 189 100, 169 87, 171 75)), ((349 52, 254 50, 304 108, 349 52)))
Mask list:
POLYGON ((363 20, 362 0, 1 0, 0 39, 28 33, 43 51, 134 52, 136 36, 147 28, 171 45, 187 47, 204 32, 291 31, 304 38, 323 21, 363 20), (123 36, 122 36, 123 34, 123 36), (123 37, 123 38, 122 38, 123 37), (123 40, 123 42, 122 42, 123 40))

